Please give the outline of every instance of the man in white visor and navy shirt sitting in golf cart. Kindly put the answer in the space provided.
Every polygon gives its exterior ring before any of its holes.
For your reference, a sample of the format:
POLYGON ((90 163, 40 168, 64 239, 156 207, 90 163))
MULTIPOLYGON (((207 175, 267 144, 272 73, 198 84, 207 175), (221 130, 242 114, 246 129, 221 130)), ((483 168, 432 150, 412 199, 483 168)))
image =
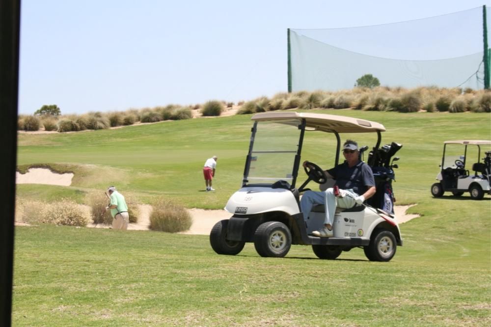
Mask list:
MULTIPOLYGON (((312 235, 321 238, 332 237, 332 222, 336 206, 345 209, 352 208, 356 204, 361 205, 375 194, 375 179, 372 169, 358 159, 358 153, 358 144, 355 141, 347 140, 343 145, 346 161, 326 171, 328 178, 336 180, 334 185, 339 186, 340 196, 334 195, 333 188, 328 188, 324 192, 306 191, 303 194, 300 208, 305 221, 313 205, 324 204, 326 206, 324 227, 312 232, 312 235)), ((303 162, 303 167, 307 165, 308 161, 303 162)))

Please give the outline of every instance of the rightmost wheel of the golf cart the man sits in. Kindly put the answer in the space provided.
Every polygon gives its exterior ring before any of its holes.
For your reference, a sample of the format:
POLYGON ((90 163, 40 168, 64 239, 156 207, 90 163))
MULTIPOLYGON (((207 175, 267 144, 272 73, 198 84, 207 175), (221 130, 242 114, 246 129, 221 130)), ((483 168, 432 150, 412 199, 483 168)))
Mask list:
POLYGON ((373 231, 370 244, 363 247, 365 256, 370 261, 390 261, 396 254, 397 242, 394 234, 386 229, 373 231))

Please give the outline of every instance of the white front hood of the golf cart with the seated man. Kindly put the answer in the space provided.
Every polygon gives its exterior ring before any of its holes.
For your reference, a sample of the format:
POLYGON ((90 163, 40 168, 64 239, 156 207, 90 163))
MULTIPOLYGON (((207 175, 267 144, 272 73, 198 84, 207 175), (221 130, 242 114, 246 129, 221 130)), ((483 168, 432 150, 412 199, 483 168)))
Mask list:
POLYGON ((292 191, 284 188, 243 187, 235 192, 224 208, 236 215, 283 211, 290 215, 300 212, 292 191))

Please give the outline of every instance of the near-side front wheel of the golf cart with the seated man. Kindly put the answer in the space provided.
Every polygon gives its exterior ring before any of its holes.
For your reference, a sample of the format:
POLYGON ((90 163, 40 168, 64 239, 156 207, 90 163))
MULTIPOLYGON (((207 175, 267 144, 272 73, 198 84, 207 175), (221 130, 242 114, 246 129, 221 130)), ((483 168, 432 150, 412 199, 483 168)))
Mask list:
POLYGON ((279 221, 268 221, 259 225, 254 233, 254 247, 261 257, 282 258, 292 245, 292 234, 279 221))

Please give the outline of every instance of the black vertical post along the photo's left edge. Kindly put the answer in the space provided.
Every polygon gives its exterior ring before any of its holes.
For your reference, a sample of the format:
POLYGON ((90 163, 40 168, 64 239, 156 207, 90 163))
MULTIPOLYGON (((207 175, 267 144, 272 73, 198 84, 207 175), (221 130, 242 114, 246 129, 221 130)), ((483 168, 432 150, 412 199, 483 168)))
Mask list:
POLYGON ((0 0, 0 326, 12 322, 20 0, 0 0))

